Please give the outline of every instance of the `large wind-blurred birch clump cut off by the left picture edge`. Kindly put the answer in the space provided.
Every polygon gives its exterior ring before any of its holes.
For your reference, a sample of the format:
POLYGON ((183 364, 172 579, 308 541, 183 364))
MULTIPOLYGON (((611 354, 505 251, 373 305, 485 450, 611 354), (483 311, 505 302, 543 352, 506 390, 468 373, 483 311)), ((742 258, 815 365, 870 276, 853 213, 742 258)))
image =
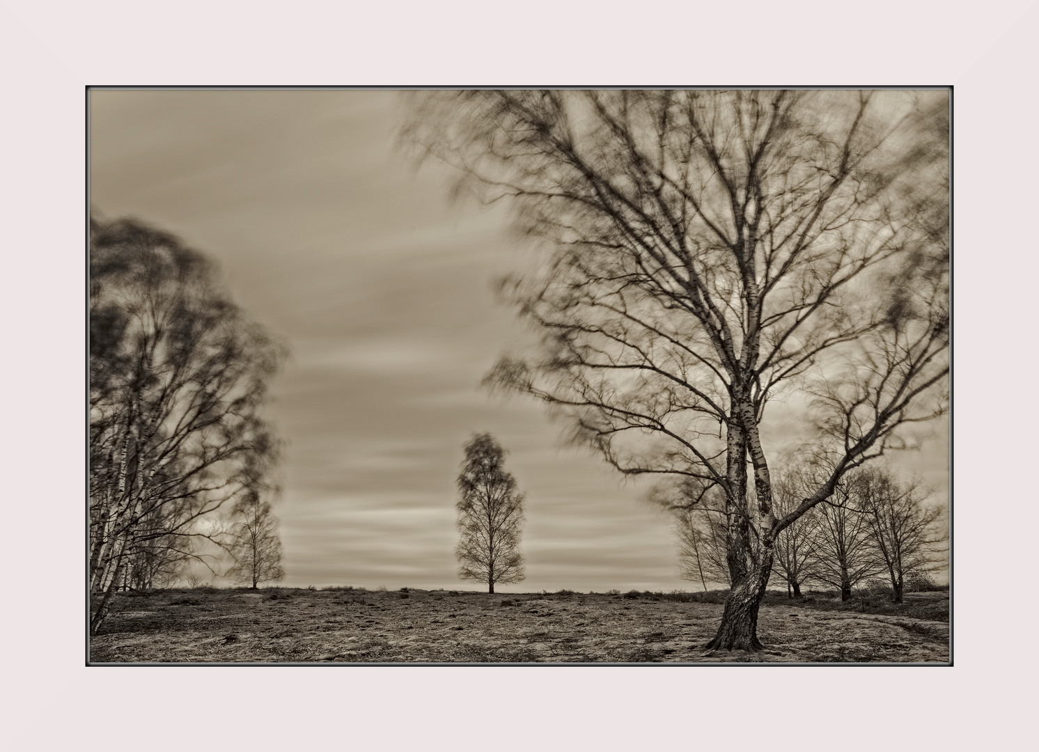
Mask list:
POLYGON ((135 560, 205 563, 203 520, 262 482, 282 356, 202 254, 137 221, 91 222, 91 634, 135 560))

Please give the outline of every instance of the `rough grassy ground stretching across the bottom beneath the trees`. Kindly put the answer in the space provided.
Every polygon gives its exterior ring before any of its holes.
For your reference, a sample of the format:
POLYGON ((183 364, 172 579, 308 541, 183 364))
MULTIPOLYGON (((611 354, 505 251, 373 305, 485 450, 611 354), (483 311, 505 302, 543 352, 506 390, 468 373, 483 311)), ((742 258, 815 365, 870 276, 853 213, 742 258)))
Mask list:
POLYGON ((719 602, 666 594, 167 590, 119 595, 90 663, 948 663, 948 593, 762 606, 765 650, 707 651, 719 602), (874 599, 875 601, 876 599, 874 599), (871 613, 873 612, 873 613, 871 613), (920 618, 920 617, 924 618, 920 618), (942 620, 943 619, 943 620, 942 620))

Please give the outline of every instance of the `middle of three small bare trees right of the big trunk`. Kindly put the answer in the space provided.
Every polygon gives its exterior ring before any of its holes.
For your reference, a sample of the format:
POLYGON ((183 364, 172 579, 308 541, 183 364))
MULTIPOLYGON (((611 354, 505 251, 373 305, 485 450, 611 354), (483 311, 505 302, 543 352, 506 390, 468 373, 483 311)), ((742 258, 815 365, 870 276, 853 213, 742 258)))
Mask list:
POLYGON ((842 600, 851 598, 856 585, 883 570, 870 515, 862 507, 864 485, 862 475, 846 476, 816 510, 812 579, 838 589, 842 600))

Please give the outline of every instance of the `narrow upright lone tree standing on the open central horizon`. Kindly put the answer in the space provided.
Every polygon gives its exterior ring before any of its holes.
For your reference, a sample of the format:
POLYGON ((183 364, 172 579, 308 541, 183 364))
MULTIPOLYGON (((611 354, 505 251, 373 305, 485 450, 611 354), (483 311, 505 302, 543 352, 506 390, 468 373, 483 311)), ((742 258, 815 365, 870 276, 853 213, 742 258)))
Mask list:
POLYGON ((503 465, 505 450, 489 433, 480 433, 465 445, 465 459, 458 476, 458 532, 455 556, 461 566, 459 580, 486 583, 521 582, 523 556, 517 548, 523 535, 524 494, 503 465))

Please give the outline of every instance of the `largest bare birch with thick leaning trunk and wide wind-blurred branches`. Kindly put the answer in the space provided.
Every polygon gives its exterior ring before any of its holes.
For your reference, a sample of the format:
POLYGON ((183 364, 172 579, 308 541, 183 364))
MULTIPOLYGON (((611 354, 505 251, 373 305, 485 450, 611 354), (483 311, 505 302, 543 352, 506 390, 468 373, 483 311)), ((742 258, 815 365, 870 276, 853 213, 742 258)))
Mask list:
POLYGON ((412 97, 404 142, 545 251, 501 286, 542 345, 489 382, 620 473, 720 488, 732 587, 709 647, 758 649, 776 537, 945 409, 947 93, 412 97), (779 393, 836 456, 782 515, 762 431, 779 393))

